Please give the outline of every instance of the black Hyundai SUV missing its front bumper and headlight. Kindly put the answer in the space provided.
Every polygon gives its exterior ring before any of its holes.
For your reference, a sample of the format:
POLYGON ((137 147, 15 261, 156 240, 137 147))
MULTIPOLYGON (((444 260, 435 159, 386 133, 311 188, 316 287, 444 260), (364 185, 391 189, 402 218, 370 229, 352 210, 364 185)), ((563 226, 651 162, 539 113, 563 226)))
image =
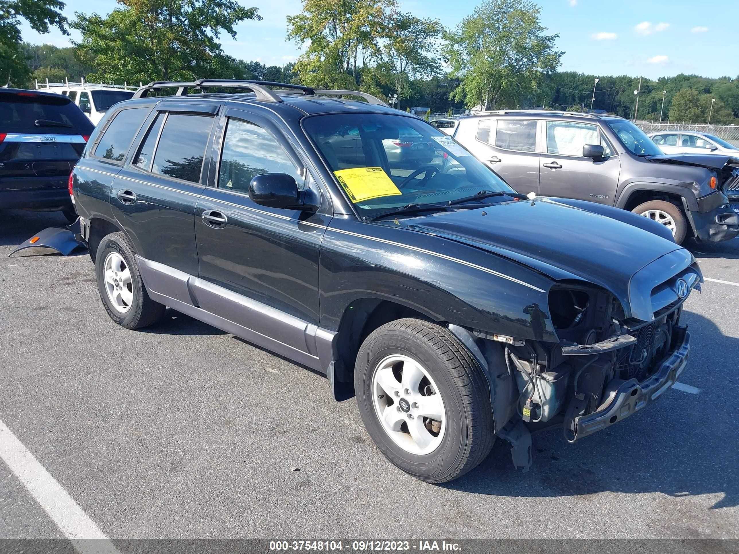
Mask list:
POLYGON ((586 437, 687 363, 680 315, 702 276, 667 228, 527 199, 364 93, 150 83, 106 114, 72 184, 113 321, 168 306, 326 374, 428 482, 496 436, 528 468, 531 431, 586 437), (327 98, 349 95, 367 101, 327 98), (387 153, 410 132, 433 150, 412 167, 387 153))

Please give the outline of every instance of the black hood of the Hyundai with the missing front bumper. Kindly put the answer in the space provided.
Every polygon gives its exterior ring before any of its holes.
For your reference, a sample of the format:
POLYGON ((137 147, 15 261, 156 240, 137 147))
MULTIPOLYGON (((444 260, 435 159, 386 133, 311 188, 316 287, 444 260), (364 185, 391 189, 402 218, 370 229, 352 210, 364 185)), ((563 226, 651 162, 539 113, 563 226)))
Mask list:
POLYGON ((554 280, 575 278, 597 284, 616 295, 624 310, 631 277, 656 259, 682 250, 643 228, 554 199, 377 222, 396 228, 398 224, 505 256, 554 280))

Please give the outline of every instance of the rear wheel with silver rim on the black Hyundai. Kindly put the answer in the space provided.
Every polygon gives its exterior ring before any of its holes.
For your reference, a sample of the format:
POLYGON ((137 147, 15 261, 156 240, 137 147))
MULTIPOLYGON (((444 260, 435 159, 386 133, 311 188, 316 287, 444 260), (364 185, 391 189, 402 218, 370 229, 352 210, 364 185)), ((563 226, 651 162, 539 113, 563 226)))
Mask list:
POLYGON ((119 231, 104 236, 95 260, 98 293, 115 323, 126 329, 142 329, 162 317, 165 307, 149 298, 136 263, 136 250, 125 234, 119 231))

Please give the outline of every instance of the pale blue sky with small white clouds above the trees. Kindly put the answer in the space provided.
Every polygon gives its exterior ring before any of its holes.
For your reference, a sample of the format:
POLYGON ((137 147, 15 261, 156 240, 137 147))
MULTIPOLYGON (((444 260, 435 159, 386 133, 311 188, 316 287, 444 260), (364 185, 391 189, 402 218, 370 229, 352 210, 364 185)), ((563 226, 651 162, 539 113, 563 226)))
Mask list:
MULTIPOLYGON (((283 65, 300 54, 285 41, 285 17, 298 13, 300 0, 239 0, 259 7, 262 21, 247 21, 236 40, 222 37, 225 52, 235 58, 283 65)), ((477 0, 401 0, 401 7, 418 16, 439 18, 453 27, 479 4, 477 0), (453 6, 450 9, 450 6, 453 6)), ((736 0, 539 0, 541 21, 549 33, 559 33, 557 47, 565 51, 562 70, 595 75, 644 75, 658 78, 678 73, 706 77, 739 75, 739 37, 732 25, 736 0)), ((114 0, 69 0, 64 10, 109 13, 114 0)), ((69 46, 58 31, 39 35, 24 24, 24 40, 69 46)), ((72 31, 72 33, 75 33, 72 31)), ((78 35, 73 34, 73 37, 78 35)))

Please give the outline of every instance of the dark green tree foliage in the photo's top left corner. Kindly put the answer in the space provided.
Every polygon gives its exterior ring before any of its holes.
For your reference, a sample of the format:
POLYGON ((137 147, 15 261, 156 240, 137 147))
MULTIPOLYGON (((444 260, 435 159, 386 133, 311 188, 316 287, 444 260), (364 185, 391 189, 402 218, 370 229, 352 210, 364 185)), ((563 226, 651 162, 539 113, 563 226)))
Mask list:
POLYGON ((38 33, 57 27, 68 35, 67 18, 61 15, 60 0, 0 0, 0 79, 1 84, 27 86, 30 68, 21 43, 21 19, 38 33))

